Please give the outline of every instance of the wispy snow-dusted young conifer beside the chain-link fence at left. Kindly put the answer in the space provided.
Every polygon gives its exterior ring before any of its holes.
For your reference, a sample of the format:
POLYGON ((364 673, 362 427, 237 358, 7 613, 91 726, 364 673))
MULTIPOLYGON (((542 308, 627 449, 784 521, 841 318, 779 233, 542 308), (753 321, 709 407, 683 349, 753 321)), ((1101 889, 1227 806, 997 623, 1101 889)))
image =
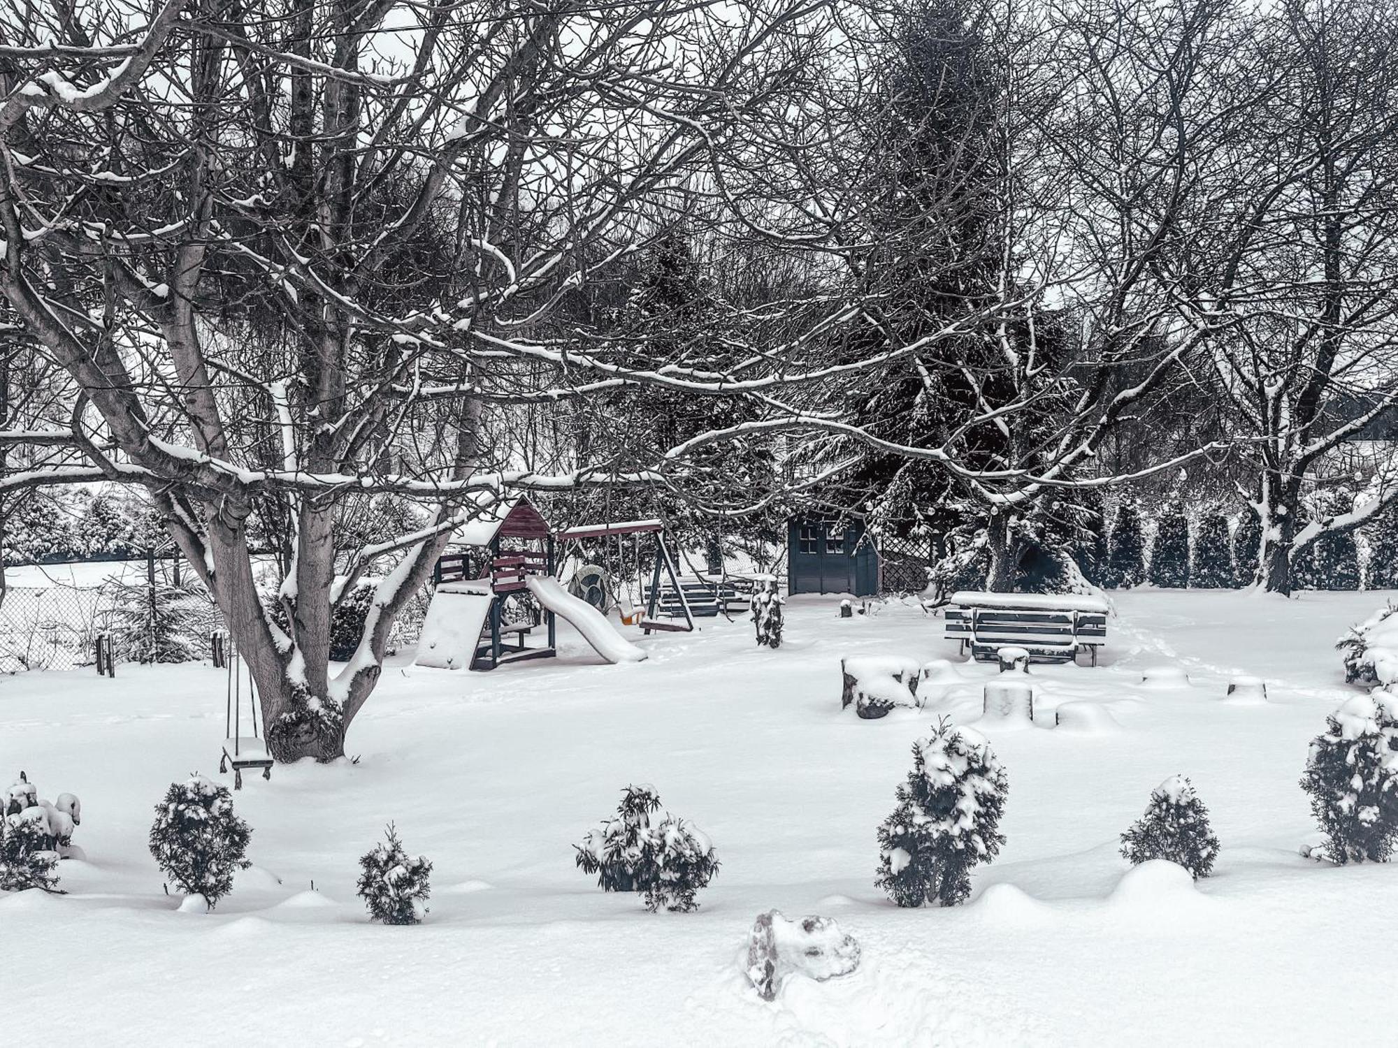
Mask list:
POLYGON ((196 581, 113 581, 112 644, 130 662, 193 662, 204 650, 211 602, 196 581))

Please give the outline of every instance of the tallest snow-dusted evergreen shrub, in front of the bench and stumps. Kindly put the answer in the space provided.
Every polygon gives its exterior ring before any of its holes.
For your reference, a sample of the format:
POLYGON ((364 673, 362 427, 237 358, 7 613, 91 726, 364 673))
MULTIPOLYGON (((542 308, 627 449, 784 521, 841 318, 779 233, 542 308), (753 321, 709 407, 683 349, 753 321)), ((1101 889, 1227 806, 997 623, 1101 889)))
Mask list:
POLYGON ((970 894, 970 871, 1000 852, 1009 785, 983 735, 944 717, 913 743, 913 770, 898 808, 878 829, 875 883, 899 905, 955 905, 970 894))

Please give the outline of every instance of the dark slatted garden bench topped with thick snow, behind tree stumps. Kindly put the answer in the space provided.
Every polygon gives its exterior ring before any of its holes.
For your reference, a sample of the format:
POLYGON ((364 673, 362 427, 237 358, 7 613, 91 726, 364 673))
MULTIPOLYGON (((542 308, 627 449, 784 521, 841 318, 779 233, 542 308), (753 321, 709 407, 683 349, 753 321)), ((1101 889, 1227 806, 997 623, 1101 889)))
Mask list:
POLYGON ((1002 647, 1029 651, 1036 662, 1072 662, 1086 648, 1097 665, 1107 643, 1107 612, 1100 597, 1079 594, 952 594, 942 616, 948 640, 970 647, 972 657, 991 661, 1002 647))

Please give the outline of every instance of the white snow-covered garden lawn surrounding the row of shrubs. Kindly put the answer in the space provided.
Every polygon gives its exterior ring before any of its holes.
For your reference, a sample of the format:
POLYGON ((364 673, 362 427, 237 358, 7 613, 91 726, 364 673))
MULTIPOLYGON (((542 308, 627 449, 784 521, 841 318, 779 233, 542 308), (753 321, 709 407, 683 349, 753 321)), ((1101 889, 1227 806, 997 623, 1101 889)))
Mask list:
POLYGON ((840 619, 836 598, 795 598, 777 651, 719 622, 640 640, 633 665, 603 665, 566 629, 565 657, 493 674, 403 658, 355 721, 358 764, 246 778, 254 866, 211 914, 178 911, 145 838, 172 780, 217 771, 224 674, 8 678, 0 776, 78 794, 88 858, 62 864, 67 896, 0 897, 0 1044, 1378 1042, 1398 865, 1300 858, 1314 827, 1297 780, 1356 693, 1334 641, 1387 597, 1118 595, 1103 667, 1033 671, 1040 722, 1090 701, 1099 727, 977 725, 1008 771, 1007 844, 952 910, 899 910, 874 887, 875 827, 911 742, 938 715, 979 717, 994 669, 928 682, 920 713, 840 711, 842 655, 958 658, 916 604, 840 619), (1162 664, 1188 686, 1142 686, 1162 664), (1265 678, 1269 701, 1222 701, 1232 674, 1265 678), (1222 843, 1197 886, 1118 855, 1176 773, 1222 843), (575 868, 572 845, 629 783, 713 840, 698 912, 649 914, 575 868), (421 926, 372 925, 354 893, 390 820, 433 864, 421 926), (772 907, 836 918, 858 971, 793 977, 762 1003, 740 956, 772 907))

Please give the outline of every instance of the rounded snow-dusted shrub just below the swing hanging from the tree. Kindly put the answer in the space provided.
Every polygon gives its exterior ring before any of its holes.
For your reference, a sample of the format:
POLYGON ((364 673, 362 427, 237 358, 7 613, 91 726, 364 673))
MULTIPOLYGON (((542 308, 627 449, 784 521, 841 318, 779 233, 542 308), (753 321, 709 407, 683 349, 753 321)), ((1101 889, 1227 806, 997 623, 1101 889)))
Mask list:
POLYGON ((233 890, 233 872, 252 864, 243 858, 252 830, 233 813, 228 787, 203 776, 171 783, 155 805, 151 855, 187 896, 203 896, 212 910, 233 890))

